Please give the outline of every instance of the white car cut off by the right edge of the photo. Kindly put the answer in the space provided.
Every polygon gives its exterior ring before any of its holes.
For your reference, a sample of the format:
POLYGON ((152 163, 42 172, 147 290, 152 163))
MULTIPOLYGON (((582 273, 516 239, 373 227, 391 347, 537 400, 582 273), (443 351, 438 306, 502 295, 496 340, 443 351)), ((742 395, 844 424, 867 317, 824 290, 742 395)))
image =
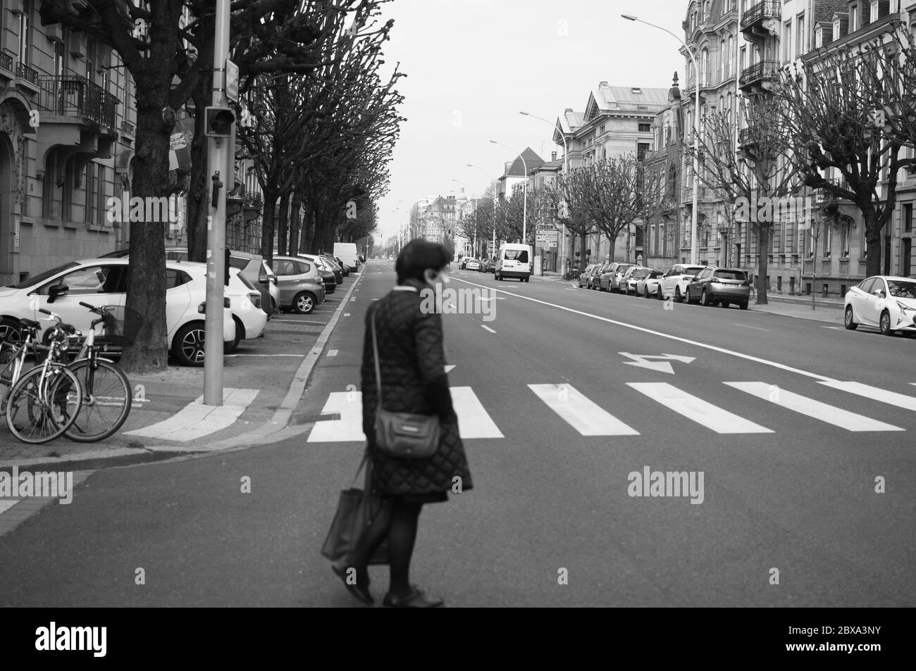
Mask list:
POLYGON ((862 324, 877 327, 884 335, 916 332, 916 279, 868 277, 846 292, 843 314, 849 330, 862 324))

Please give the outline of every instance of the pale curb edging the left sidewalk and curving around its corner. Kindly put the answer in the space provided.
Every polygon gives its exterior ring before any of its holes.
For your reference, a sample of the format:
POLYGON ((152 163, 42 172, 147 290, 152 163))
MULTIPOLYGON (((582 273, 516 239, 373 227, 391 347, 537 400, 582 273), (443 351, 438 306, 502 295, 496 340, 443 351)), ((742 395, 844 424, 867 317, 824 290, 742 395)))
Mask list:
POLYGON ((318 336, 318 340, 315 341, 311 351, 306 355, 305 360, 300 363, 299 368, 296 370, 296 374, 293 375, 292 383, 289 385, 289 391, 284 397, 283 402, 274 412, 274 416, 267 420, 267 422, 262 424, 260 427, 256 427, 243 434, 239 434, 238 436, 224 438, 223 440, 207 446, 145 445, 142 448, 136 449, 98 449, 92 452, 83 452, 82 454, 74 455, 73 457, 64 457, 60 459, 49 459, 45 457, 34 460, 3 461, 0 462, 0 471, 7 468, 12 468, 14 465, 29 467, 47 466, 49 468, 60 468, 60 466, 69 463, 80 463, 82 465, 84 462, 92 461, 93 463, 98 464, 95 469, 98 470, 98 468, 103 468, 105 464, 108 464, 109 460, 121 461, 121 463, 111 463, 110 465, 112 467, 135 466, 153 461, 172 460, 174 458, 178 458, 177 460, 184 460, 198 456, 204 456, 214 452, 248 449, 252 447, 251 443, 253 441, 256 441, 258 445, 267 445, 305 433, 311 429, 311 423, 296 425, 293 427, 288 427, 287 424, 289 423, 289 419, 292 417, 292 413, 296 409, 296 406, 299 405, 302 393, 305 391, 305 386, 311 377, 311 372, 314 369, 315 364, 318 363, 322 356, 325 344, 327 344, 327 341, 331 340, 331 335, 333 333, 334 327, 336 327, 337 321, 344 313, 344 309, 348 309, 350 297, 353 294, 354 289, 363 279, 363 276, 364 273, 359 273, 356 281, 347 290, 343 300, 341 300, 340 305, 334 310, 331 319, 328 321, 327 325, 318 336), (170 457, 169 455, 173 455, 173 457, 170 457))

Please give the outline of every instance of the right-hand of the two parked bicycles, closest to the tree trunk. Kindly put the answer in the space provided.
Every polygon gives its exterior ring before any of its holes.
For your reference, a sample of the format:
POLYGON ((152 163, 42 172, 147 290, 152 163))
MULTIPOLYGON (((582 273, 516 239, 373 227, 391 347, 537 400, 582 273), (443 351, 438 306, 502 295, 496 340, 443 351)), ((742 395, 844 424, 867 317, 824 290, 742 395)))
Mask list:
MULTIPOLYGON (((109 345, 122 347, 133 344, 143 319, 130 308, 97 308, 82 301, 80 305, 99 315, 99 319, 91 322, 80 352, 71 363, 67 363, 66 352, 63 352, 63 363, 76 374, 82 385, 82 406, 64 435, 76 442, 91 443, 108 438, 121 428, 130 415, 134 400, 130 380, 125 373, 113 361, 99 354, 107 351, 109 345), (96 337, 95 327, 99 324, 103 332, 96 337)), ((80 331, 77 334, 82 336, 80 331)))

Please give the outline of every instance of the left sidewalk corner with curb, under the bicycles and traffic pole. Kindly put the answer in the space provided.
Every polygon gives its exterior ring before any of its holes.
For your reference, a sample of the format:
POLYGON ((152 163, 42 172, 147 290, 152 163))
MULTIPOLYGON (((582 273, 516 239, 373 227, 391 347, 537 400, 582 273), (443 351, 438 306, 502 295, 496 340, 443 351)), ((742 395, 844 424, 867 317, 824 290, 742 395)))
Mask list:
POLYGON ((242 341, 224 357, 222 406, 202 403, 203 368, 169 366, 165 371, 128 374, 133 390, 130 415, 110 438, 78 443, 56 438, 41 445, 16 440, 0 417, 0 469, 13 465, 66 462, 80 468, 136 463, 175 456, 249 447, 285 438, 289 417, 300 401, 314 362, 321 355, 360 275, 351 274, 344 287, 309 315, 275 315, 265 336, 242 341))

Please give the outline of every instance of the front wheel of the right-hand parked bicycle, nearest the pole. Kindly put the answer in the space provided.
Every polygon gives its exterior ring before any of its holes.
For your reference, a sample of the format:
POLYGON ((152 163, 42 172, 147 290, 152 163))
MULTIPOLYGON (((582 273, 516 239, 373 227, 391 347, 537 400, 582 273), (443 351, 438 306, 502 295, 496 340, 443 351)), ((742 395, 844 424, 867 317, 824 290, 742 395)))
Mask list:
POLYGON ((130 414, 130 381, 120 368, 101 359, 81 359, 68 368, 80 381, 82 406, 64 435, 80 443, 108 438, 130 414))

